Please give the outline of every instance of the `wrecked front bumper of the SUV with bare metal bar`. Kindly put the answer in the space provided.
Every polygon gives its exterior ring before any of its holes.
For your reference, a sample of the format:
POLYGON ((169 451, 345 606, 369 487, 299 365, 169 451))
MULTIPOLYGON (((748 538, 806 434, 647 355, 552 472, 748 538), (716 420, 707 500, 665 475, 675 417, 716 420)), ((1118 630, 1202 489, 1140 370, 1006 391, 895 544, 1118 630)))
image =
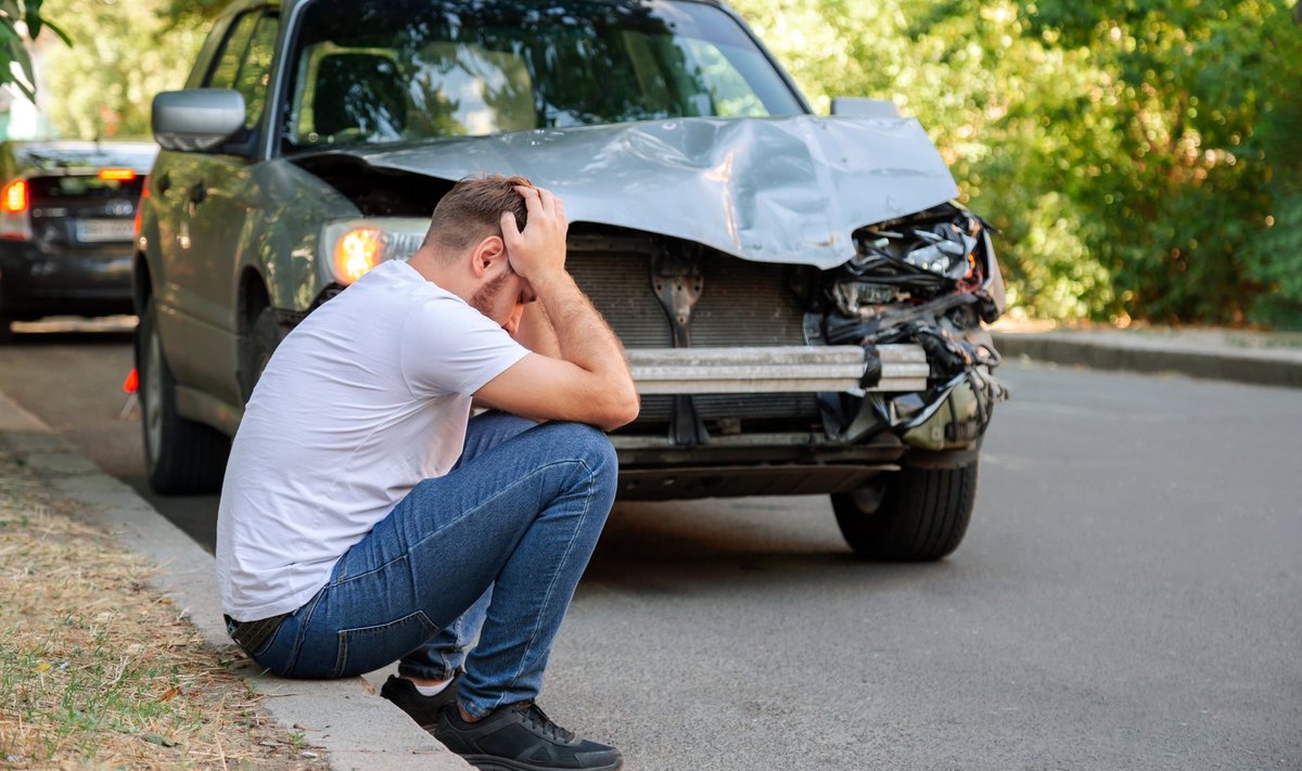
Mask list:
MULTIPOLYGON (((668 434, 618 431, 611 440, 626 499, 844 492, 898 470, 913 449, 974 447, 990 419, 990 404, 958 409, 954 395, 967 387, 953 379, 937 383, 926 350, 915 344, 634 348, 626 356, 644 397, 801 393, 823 405, 822 425, 799 431, 699 430, 687 432, 691 442, 673 426, 668 434), (917 409, 900 412, 910 402, 917 409), (854 409, 846 413, 849 404, 854 409)), ((975 380, 993 382, 984 365, 973 371, 975 380)))

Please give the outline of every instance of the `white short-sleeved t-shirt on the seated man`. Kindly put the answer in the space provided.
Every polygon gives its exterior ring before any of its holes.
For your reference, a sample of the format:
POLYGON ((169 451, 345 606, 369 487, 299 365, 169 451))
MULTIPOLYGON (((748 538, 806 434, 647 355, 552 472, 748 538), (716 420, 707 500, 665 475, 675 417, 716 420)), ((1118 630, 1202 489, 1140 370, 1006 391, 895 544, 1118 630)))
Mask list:
POLYGON ((529 352, 405 262, 385 262, 276 349, 217 512, 221 604, 290 612, 422 479, 457 462, 470 397, 529 352))

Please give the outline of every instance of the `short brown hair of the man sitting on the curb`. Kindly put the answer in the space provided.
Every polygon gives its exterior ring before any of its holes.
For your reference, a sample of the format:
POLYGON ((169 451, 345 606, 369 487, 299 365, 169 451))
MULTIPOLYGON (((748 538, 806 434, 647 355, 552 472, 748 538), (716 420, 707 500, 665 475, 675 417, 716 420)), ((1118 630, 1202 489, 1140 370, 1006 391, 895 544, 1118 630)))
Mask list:
POLYGON ((434 207, 424 245, 434 245, 448 257, 460 255, 488 236, 501 237, 504 211, 514 214, 516 227, 523 231, 529 212, 516 185, 534 186, 525 177, 465 177, 434 207))

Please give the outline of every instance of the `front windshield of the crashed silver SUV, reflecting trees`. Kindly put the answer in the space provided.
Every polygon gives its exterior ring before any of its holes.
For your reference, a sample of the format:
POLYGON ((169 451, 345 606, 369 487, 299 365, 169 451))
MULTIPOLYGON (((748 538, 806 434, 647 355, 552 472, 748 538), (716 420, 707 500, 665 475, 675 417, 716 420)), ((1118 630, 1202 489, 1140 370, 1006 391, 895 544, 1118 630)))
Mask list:
POLYGON ((803 112, 719 8, 629 0, 318 0, 289 152, 674 117, 803 112))

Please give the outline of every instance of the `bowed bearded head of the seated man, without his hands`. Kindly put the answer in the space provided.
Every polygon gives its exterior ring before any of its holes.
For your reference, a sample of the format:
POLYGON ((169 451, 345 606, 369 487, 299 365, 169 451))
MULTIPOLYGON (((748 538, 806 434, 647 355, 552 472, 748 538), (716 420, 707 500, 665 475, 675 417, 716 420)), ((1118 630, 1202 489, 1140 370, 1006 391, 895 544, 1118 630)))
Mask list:
POLYGON ((492 175, 466 177, 444 195, 430 219, 424 244, 413 267, 475 310, 514 333, 523 305, 533 298, 529 283, 510 267, 501 233, 503 212, 527 224, 525 199, 516 186, 533 188, 523 177, 492 175))

